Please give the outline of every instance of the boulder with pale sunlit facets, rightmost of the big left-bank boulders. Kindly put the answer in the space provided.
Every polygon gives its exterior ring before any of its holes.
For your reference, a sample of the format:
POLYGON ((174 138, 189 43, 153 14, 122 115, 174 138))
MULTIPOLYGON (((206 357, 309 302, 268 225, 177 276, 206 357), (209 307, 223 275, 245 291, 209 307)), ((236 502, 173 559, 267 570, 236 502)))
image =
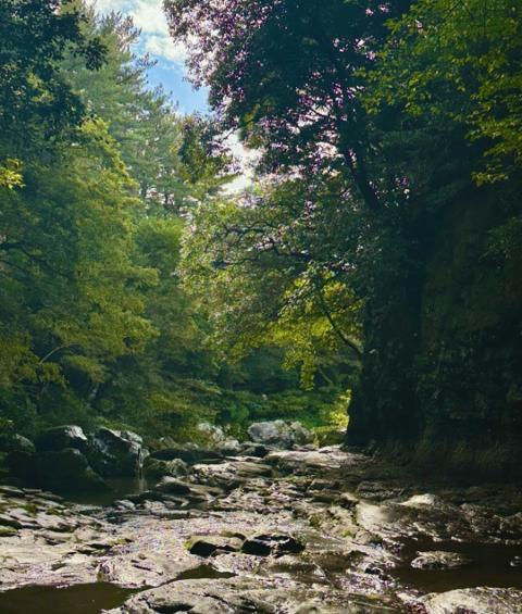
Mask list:
POLYGON ((88 451, 91 466, 103 477, 136 476, 147 455, 139 435, 104 427, 92 437, 88 451))

